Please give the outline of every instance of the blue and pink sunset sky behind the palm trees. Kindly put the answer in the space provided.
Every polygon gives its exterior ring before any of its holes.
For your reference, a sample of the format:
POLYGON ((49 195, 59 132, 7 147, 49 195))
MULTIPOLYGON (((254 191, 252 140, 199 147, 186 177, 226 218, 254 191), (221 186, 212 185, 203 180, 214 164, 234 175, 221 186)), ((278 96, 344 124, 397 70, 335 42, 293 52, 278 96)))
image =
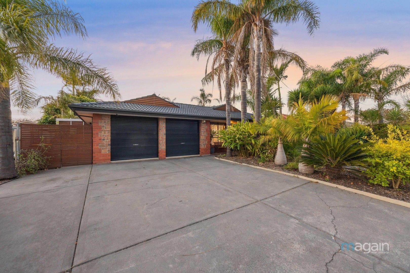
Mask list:
MULTIPOLYGON (((314 36, 307 34, 302 23, 277 25, 280 32, 275 39, 277 48, 298 53, 309 65, 329 67, 345 56, 387 47, 390 54, 380 57, 375 65, 410 65, 410 1, 315 2, 321 12, 321 23, 314 36)), ((190 52, 197 39, 209 36, 205 27, 197 33, 191 28, 191 14, 197 3, 196 0, 67 0, 66 5, 83 16, 89 38, 83 41, 70 36, 55 43, 92 54, 96 63, 112 72, 122 99, 155 92, 171 99, 176 97, 176 102, 191 103, 190 98, 202 87, 205 59, 197 61, 190 52)), ((282 88, 284 94, 296 88, 302 73, 289 68, 287 75, 286 86, 282 88)), ((45 72, 34 71, 34 77, 39 95, 56 95, 63 86, 60 79, 45 72)), ((218 97, 216 86, 205 86, 205 90, 218 97)), ((369 108, 373 104, 369 100, 361 107, 369 108)), ((23 117, 16 108, 12 108, 12 116, 23 117)), ((28 115, 40 116, 39 109, 28 115)))

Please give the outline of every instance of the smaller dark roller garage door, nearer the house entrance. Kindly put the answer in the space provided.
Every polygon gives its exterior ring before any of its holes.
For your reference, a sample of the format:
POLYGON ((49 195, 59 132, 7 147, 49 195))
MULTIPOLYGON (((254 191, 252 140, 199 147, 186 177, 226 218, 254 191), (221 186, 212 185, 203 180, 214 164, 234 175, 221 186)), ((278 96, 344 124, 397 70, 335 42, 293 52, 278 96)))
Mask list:
POLYGON ((199 154, 199 121, 166 119, 166 156, 199 154))

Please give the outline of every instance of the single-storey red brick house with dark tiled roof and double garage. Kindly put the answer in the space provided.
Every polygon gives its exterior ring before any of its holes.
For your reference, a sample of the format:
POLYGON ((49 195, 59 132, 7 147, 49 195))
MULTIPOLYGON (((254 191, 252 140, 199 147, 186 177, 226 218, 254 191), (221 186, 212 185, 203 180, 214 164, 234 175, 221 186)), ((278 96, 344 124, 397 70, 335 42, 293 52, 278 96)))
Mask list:
MULTIPOLYGON (((124 102, 70 104, 93 126, 93 163, 210 154, 210 131, 225 128, 225 104, 198 106, 149 95, 124 102)), ((232 107, 231 120, 241 120, 232 107)), ((247 113, 251 120, 251 114, 247 113)))

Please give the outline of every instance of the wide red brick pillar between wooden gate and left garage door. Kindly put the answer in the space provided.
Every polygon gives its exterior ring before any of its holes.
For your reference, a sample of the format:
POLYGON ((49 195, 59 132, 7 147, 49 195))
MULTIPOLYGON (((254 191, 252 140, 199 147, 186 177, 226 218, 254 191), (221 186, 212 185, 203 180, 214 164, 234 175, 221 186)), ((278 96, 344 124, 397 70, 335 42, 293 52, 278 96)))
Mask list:
POLYGON ((93 114, 93 164, 111 162, 111 116, 93 114))

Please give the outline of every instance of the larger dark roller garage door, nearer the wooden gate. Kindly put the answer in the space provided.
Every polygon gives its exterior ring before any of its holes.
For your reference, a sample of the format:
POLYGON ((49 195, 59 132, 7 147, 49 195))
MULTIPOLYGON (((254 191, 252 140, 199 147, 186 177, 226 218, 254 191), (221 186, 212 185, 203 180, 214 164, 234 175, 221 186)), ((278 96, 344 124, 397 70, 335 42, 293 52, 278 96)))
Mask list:
POLYGON ((157 157, 156 117, 111 116, 111 161, 157 157))

